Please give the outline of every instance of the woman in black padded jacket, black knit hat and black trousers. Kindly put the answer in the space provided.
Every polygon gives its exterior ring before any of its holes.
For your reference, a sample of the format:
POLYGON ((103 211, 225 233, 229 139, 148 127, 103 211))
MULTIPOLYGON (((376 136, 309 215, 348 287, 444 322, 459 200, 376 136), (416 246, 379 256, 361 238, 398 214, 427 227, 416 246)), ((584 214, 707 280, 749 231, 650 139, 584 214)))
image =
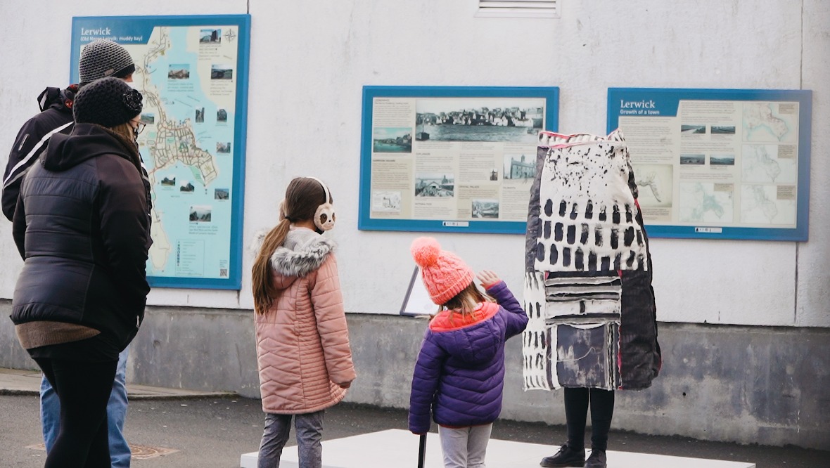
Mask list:
POLYGON ((149 292, 149 193, 135 144, 141 107, 123 80, 86 85, 71 134, 51 137, 17 199, 12 235, 24 264, 12 322, 61 402, 47 468, 110 466, 107 401, 149 292))

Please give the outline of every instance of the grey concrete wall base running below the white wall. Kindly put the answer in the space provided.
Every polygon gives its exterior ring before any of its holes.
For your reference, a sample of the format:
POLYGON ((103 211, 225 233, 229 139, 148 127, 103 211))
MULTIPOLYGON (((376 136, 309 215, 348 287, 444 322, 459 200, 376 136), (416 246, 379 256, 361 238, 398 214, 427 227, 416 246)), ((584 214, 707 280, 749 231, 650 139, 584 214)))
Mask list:
MULTIPOLYGON (((11 311, 0 301, 0 313, 11 311)), ((149 307, 128 380, 259 397, 251 311, 149 307)), ((349 314, 358 379, 346 401, 408 407, 424 319, 349 314)), ((613 427, 653 435, 830 450, 830 329, 659 324, 652 388, 617 394, 613 427)), ((521 344, 507 346, 501 417, 564 424, 562 392, 521 388, 521 344)), ((0 367, 37 368, 0 320, 0 367)))

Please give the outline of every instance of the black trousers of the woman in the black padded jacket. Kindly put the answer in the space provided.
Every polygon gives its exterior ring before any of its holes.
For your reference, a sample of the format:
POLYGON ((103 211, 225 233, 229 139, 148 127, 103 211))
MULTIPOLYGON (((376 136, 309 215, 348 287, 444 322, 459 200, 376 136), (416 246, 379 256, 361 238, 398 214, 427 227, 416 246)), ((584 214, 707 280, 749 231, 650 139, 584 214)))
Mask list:
POLYGON ((45 468, 109 468, 106 405, 118 361, 35 361, 61 401, 61 431, 45 468))

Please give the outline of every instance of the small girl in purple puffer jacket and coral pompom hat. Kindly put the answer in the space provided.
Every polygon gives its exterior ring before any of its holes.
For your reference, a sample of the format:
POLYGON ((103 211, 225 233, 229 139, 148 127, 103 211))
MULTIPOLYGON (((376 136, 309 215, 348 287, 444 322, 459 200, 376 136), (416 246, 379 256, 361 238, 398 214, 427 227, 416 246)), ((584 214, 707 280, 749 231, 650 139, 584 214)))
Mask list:
POLYGON ((424 334, 409 399, 409 430, 426 434, 438 424, 444 466, 483 467, 493 422, 501 412, 505 341, 520 334, 527 315, 505 282, 492 271, 473 282, 464 261, 432 237, 413 241, 432 302, 439 305, 424 334))

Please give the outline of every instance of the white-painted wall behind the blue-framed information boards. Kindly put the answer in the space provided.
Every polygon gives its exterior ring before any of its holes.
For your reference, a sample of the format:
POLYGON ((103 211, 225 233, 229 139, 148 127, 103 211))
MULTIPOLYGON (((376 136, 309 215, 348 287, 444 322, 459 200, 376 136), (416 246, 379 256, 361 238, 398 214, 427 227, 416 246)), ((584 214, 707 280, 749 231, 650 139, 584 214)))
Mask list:
MULTIPOLYGON (((561 0, 559 19, 476 18, 476 0, 4 0, 0 154, 68 80, 72 16, 250 12, 246 240, 276 222, 286 183, 315 175, 338 207, 350 312, 398 312, 416 233, 357 230, 363 85, 559 86, 559 130, 603 133, 611 86, 812 89, 810 241, 652 240, 658 319, 830 326, 830 5, 822 0, 561 0), (46 32, 46 33, 44 33, 46 32)), ((523 236, 437 236, 473 268, 522 285, 523 236)), ((246 244, 249 242, 247 241, 246 244)), ((247 245, 246 245, 247 246, 247 245)), ((0 297, 21 261, 0 223, 0 297)), ((244 271, 251 257, 245 255, 244 271)), ((161 290, 154 305, 251 309, 242 291, 161 290)))

